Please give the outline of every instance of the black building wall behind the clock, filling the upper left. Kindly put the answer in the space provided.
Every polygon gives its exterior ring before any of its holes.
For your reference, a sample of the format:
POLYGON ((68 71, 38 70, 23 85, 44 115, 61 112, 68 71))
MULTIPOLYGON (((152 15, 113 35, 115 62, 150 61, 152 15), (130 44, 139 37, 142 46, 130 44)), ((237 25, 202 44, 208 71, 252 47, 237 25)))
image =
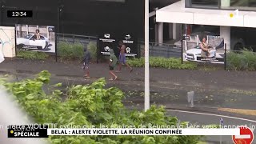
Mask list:
MULTIPOLYGON (((177 0, 150 0, 150 11, 173 2, 177 0)), ((55 26, 59 33, 80 35, 129 31, 144 38, 144 0, 0 0, 0 12, 0 26, 55 26), (7 18, 7 10, 33 10, 33 18, 7 18)), ((150 18, 151 39, 154 17, 150 18)))

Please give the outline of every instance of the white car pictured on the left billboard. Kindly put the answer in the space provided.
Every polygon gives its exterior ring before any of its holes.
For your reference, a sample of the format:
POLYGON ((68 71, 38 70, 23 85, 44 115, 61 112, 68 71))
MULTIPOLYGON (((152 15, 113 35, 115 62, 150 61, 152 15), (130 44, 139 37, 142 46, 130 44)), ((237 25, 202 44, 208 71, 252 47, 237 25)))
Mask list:
POLYGON ((26 49, 46 49, 50 44, 48 38, 40 35, 40 39, 36 39, 35 34, 28 34, 23 38, 17 38, 16 45, 18 48, 26 48, 26 49))

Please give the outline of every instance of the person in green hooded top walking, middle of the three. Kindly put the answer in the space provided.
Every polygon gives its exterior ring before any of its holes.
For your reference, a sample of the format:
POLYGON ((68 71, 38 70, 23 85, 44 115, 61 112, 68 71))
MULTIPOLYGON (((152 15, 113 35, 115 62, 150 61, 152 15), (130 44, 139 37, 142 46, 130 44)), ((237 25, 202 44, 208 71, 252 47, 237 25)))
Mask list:
POLYGON ((133 71, 133 68, 130 67, 127 63, 126 63, 126 45, 123 42, 118 42, 118 49, 120 50, 120 54, 119 54, 119 66, 118 66, 118 70, 116 72, 121 72, 122 69, 122 65, 126 65, 130 68, 130 72, 133 71))

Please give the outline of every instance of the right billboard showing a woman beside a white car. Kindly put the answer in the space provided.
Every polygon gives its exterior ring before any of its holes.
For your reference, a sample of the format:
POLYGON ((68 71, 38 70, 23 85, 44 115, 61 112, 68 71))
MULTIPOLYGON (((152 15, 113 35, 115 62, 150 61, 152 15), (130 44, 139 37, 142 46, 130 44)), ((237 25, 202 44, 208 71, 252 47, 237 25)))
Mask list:
MULTIPOLYGON (((189 41, 191 41, 191 39, 193 40, 194 38, 190 38, 189 41)), ((224 38, 207 35, 206 42, 200 41, 191 43, 195 45, 191 45, 188 41, 185 41, 182 47, 183 61, 224 64, 224 38)))

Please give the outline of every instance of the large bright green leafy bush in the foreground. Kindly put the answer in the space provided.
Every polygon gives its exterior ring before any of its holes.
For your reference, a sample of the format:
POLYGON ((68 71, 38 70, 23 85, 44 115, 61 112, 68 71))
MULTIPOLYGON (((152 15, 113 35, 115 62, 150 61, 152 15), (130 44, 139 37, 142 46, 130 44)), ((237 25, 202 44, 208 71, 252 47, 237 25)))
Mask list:
MULTIPOLYGON (((91 85, 70 86, 63 92, 58 83, 49 86, 50 73, 42 71, 34 79, 20 82, 2 82, 14 94, 15 102, 33 118, 34 122, 58 123, 58 126, 177 126, 178 119, 166 115, 164 107, 151 106, 150 110, 141 112, 127 110, 122 104, 124 94, 115 87, 105 88, 103 78, 91 85), (52 91, 46 94, 42 86, 48 86, 52 91), (62 99, 65 95, 67 98, 62 99)), ((186 126, 186 122, 179 126, 186 126)), ((54 144, 112 144, 112 143, 171 143, 196 144, 199 136, 50 136, 49 141, 54 144)))

